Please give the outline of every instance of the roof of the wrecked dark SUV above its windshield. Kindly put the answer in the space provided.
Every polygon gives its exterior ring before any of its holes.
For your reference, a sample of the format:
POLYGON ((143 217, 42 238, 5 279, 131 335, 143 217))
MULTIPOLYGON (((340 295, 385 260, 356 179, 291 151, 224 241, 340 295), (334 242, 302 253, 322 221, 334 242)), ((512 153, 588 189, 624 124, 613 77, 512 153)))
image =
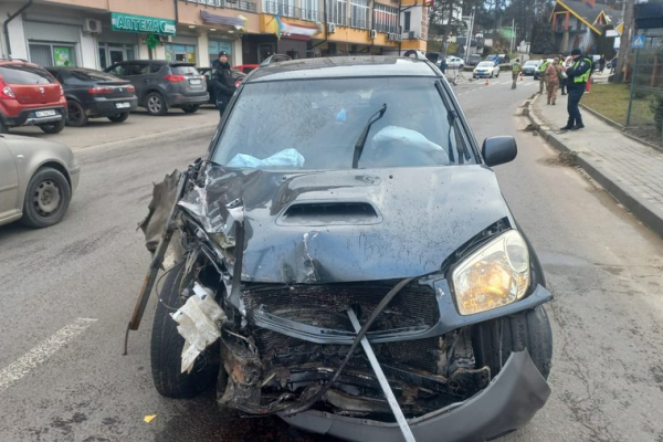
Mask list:
POLYGON ((278 80, 341 78, 371 76, 439 76, 436 67, 422 60, 362 55, 302 59, 260 67, 248 83, 278 80))

